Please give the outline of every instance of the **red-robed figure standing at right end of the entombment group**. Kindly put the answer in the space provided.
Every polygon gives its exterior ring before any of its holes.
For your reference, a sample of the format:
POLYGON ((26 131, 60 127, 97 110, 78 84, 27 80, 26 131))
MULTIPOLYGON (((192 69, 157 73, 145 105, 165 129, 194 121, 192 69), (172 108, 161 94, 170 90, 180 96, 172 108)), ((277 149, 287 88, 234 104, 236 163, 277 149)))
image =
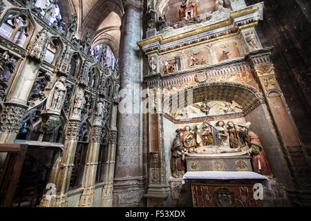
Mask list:
POLYGON ((255 173, 260 173, 267 177, 272 177, 270 166, 267 163, 267 157, 263 146, 256 133, 249 130, 250 122, 239 125, 241 127, 241 135, 245 143, 249 147, 249 153, 252 155, 252 165, 255 173))

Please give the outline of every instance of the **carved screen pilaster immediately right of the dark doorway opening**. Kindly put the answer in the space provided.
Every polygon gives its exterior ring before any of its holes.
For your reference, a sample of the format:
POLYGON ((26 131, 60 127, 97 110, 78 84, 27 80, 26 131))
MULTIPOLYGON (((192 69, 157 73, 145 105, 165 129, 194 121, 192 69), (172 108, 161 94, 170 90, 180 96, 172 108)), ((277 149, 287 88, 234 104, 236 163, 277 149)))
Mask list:
POLYGON ((70 184, 70 177, 73 171, 73 160, 75 159, 75 151, 81 122, 78 120, 70 120, 66 131, 65 148, 62 157, 59 157, 53 171, 50 174, 48 183, 55 184, 56 194, 50 198, 48 193, 42 197, 40 207, 66 207, 68 204, 67 194, 70 184))

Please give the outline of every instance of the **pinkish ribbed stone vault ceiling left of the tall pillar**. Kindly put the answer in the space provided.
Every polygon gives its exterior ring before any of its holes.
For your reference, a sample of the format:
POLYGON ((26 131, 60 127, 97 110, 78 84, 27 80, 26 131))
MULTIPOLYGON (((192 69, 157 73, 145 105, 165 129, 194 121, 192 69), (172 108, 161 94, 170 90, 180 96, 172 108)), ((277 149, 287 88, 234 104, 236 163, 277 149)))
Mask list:
POLYGON ((59 8, 66 21, 77 13, 77 38, 84 39, 90 29, 93 32, 92 46, 109 44, 118 57, 121 18, 124 15, 122 0, 62 0, 59 8))

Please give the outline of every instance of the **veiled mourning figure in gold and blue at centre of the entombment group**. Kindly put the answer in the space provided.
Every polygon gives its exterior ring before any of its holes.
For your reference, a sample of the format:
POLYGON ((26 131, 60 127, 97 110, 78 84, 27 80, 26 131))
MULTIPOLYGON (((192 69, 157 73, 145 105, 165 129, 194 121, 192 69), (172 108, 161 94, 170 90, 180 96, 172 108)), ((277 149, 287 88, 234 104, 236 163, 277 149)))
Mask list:
POLYGON ((202 142, 203 146, 220 146, 218 133, 219 131, 210 122, 204 122, 202 128, 202 142))

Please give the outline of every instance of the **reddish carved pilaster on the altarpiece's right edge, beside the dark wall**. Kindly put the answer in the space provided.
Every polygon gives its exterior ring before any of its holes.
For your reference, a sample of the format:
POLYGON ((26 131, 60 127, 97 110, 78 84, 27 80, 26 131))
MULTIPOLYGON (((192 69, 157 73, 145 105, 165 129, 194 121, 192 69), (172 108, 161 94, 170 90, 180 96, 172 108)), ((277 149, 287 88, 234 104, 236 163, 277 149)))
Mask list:
POLYGON ((290 113, 285 97, 281 91, 274 66, 270 61, 270 50, 249 55, 254 69, 255 77, 261 86, 265 95, 265 100, 272 115, 276 131, 279 134, 283 150, 285 151, 294 171, 293 177, 296 177, 297 186, 308 186, 311 184, 311 169, 306 161, 306 153, 303 144, 301 144, 298 130, 294 119, 290 113))

